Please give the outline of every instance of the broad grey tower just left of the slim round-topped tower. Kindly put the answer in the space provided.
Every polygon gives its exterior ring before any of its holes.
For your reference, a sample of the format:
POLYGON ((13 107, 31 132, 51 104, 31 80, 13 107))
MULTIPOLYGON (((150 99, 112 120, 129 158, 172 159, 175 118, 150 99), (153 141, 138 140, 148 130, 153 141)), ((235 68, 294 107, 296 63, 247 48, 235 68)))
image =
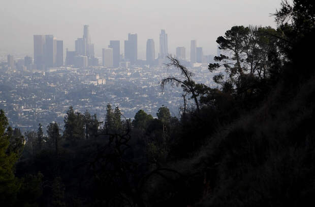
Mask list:
POLYGON ((124 41, 124 57, 135 65, 138 60, 138 37, 137 34, 128 34, 128 40, 124 41))

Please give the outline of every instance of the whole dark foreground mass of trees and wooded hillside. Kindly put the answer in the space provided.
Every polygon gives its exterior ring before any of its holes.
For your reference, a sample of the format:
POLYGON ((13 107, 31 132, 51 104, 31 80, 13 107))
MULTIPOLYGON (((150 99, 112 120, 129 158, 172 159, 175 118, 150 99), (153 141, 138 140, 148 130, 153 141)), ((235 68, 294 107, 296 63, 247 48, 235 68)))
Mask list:
POLYGON ((107 105, 104 122, 70 107, 21 134, 0 112, 0 202, 6 206, 301 206, 313 203, 315 12, 282 2, 278 27, 233 26, 216 88, 169 57, 182 76, 181 116, 162 106, 134 120, 107 105), (288 21, 289 20, 289 21, 288 21), (229 54, 229 55, 227 55, 229 54), (192 104, 189 104, 192 103, 192 104), (62 132, 62 133, 61 133, 62 132))

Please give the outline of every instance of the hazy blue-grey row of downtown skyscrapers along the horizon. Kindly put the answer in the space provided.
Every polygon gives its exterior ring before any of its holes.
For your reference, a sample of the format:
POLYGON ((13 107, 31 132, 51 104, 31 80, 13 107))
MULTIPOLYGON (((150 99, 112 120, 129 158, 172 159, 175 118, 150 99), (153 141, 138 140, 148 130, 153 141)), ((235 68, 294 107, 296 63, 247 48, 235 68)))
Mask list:
MULTIPOLYGON (((57 40, 51 34, 34 35, 34 64, 32 58, 28 56, 15 64, 14 57, 8 55, 8 66, 24 65, 27 68, 37 70, 65 65, 76 68, 99 66, 99 58, 94 56, 94 44, 91 42, 89 25, 83 26, 82 37, 77 38, 74 43, 75 50, 70 51, 67 49, 64 61, 64 42, 62 40, 57 40)), ((136 33, 129 33, 128 39, 124 40, 123 54, 120 51, 120 40, 110 40, 108 47, 102 49, 101 65, 108 68, 129 67, 133 65, 162 65, 166 63, 169 55, 168 34, 164 29, 160 33, 159 54, 155 54, 154 40, 152 38, 147 39, 145 61, 138 59, 138 35, 136 33)), ((203 48, 197 47, 196 40, 191 40, 190 62, 186 59, 186 49, 184 47, 176 48, 175 57, 186 65, 193 67, 195 63, 209 63, 213 59, 211 55, 204 56, 203 48)))

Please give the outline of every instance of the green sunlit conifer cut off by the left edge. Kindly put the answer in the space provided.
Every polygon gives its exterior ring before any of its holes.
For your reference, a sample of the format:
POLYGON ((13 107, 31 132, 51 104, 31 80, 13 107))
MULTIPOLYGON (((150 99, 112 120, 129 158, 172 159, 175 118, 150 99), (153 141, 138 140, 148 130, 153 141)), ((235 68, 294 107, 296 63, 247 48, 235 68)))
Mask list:
POLYGON ((18 155, 9 150, 11 137, 7 131, 8 125, 5 112, 0 110, 0 203, 4 206, 13 205, 20 188, 20 183, 14 176, 18 155))

